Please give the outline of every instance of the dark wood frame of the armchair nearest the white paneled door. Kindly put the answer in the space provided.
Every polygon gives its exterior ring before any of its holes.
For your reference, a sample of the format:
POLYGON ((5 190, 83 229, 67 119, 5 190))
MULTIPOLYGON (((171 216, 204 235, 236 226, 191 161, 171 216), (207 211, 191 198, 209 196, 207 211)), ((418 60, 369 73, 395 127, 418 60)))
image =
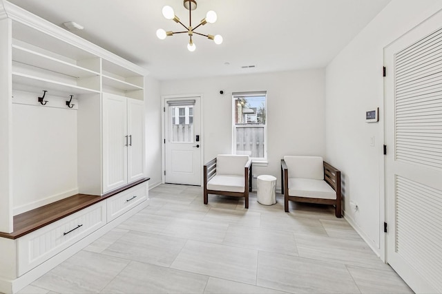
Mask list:
POLYGON ((213 178, 216 174, 216 158, 213 158, 204 165, 204 204, 209 201, 209 194, 216 194, 222 196, 235 196, 244 197, 244 208, 249 208, 249 192, 251 192, 251 180, 252 180, 252 165, 251 159, 249 159, 244 166, 244 192, 230 192, 230 191, 218 191, 207 189, 207 182, 213 178))

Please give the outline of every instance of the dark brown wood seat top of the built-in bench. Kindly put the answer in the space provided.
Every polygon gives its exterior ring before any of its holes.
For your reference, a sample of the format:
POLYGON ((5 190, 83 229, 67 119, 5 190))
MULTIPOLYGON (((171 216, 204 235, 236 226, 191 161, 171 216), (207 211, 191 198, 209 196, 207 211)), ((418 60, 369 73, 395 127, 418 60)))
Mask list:
POLYGON ((143 178, 141 180, 131 182, 130 184, 124 185, 119 189, 105 193, 103 196, 77 194, 50 204, 46 204, 43 207, 38 207, 36 209, 18 214, 17 216, 14 216, 14 231, 12 233, 0 232, 0 237, 9 239, 20 238, 21 236, 45 227, 52 222, 61 220, 61 218, 70 216, 81 209, 85 209, 86 207, 90 207, 90 205, 114 196, 119 192, 130 189, 131 187, 134 187, 142 182, 146 182, 146 180, 150 180, 150 178, 143 178))

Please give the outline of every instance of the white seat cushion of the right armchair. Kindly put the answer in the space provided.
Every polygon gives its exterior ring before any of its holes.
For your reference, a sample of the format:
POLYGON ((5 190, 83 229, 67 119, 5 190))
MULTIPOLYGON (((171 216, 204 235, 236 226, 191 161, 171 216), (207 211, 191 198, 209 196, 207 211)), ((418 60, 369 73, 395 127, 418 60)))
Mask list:
POLYGON ((336 199, 336 191, 325 180, 289 178, 289 196, 336 199))

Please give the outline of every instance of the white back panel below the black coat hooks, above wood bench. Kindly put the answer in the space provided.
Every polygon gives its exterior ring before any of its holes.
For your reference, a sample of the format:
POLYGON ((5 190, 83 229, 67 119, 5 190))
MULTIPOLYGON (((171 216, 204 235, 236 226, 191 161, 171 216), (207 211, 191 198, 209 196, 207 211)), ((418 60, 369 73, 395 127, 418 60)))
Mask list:
MULTIPOLYGON (((50 103, 56 98, 45 96, 50 103)), ((13 104, 12 132, 15 215, 78 193, 77 110, 13 104)))

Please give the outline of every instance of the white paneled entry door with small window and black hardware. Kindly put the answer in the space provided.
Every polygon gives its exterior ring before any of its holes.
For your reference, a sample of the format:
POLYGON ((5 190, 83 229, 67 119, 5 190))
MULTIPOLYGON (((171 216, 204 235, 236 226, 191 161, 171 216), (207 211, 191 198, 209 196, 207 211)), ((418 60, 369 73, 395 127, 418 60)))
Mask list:
POLYGON ((200 97, 164 103, 164 182, 201 185, 200 97))

